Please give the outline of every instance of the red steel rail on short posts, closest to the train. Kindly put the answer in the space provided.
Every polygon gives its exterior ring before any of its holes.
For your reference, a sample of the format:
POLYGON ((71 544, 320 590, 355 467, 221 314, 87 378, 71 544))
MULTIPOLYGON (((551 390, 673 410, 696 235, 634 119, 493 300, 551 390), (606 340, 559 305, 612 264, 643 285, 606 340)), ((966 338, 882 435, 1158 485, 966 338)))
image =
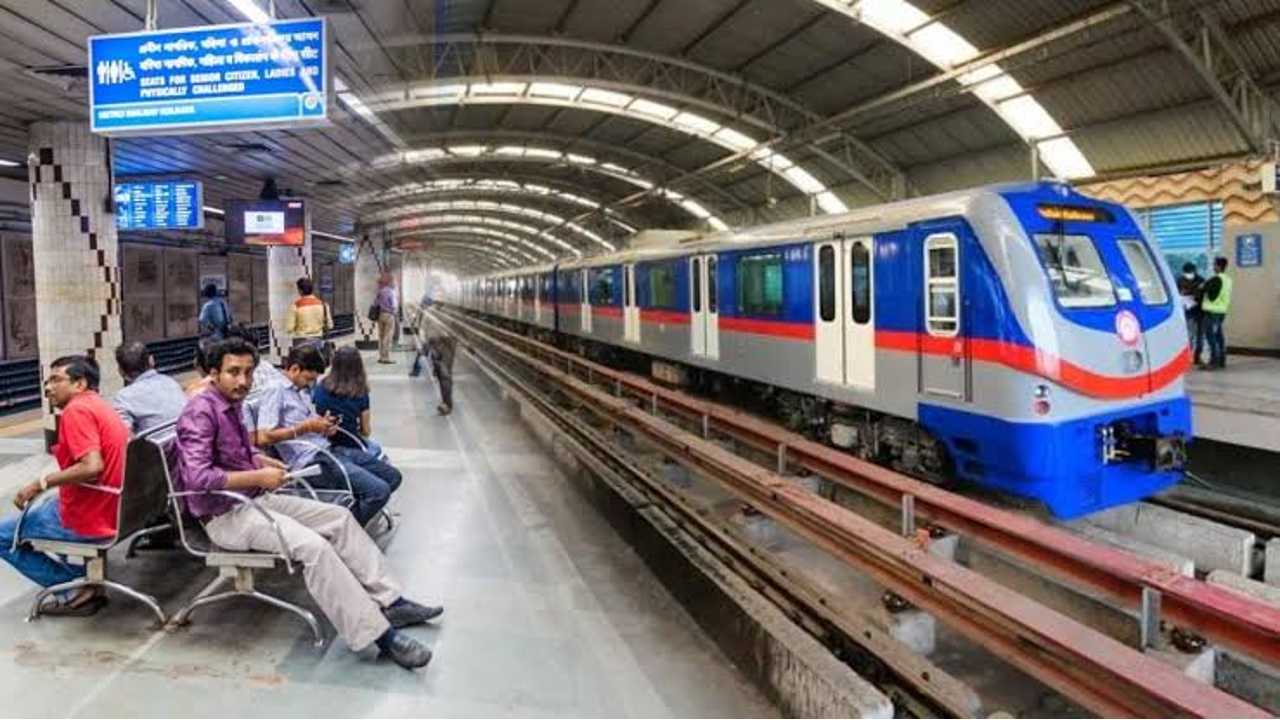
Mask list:
MULTIPOLYGON (((479 322, 479 320, 477 320, 479 322)), ((488 323, 485 323, 488 324, 488 323)), ((492 325, 490 325, 492 327, 492 325)), ((914 505, 915 515, 993 547, 1046 575, 1083 587, 1112 602, 1142 610, 1143 591, 1160 593, 1161 616, 1208 641, 1280 666, 1280 610, 1240 593, 1180 575, 1130 552, 1091 542, 1034 518, 1009 512, 858 459, 772 423, 712 401, 658 386, 631 373, 585 360, 518 333, 498 329, 566 366, 589 369, 621 392, 645 398, 704 427, 786 459, 891 507, 914 505), (911 498, 906 501, 905 498, 911 498)))

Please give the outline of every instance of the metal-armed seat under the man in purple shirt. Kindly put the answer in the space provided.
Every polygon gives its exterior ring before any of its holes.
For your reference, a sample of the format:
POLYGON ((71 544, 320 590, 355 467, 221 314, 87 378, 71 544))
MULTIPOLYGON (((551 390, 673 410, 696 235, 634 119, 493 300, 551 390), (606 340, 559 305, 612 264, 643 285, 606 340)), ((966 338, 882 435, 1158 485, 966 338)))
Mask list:
MULTIPOLYGON (((174 483, 173 473, 169 469, 166 452, 173 442, 174 434, 172 432, 161 436, 154 436, 146 441, 146 447, 140 448, 140 455, 148 465, 154 464, 160 468, 160 473, 165 480, 165 486, 168 487, 168 497, 172 503, 170 511, 174 521, 178 524, 178 538, 182 547, 195 557, 204 560, 206 566, 216 569, 218 577, 205 585, 205 588, 201 589, 196 597, 191 600, 191 602, 183 606, 182 610, 174 614, 169 624, 174 626, 186 625, 191 621, 191 614, 200 607, 234 597, 248 597, 282 610, 287 610, 298 618, 302 618, 302 620, 311 628, 311 633, 315 637, 315 646, 324 646, 324 634, 320 632, 320 624, 316 621, 316 616, 310 610, 259 591, 255 585, 255 574, 259 570, 273 570, 283 566, 291 575, 297 571, 297 564, 289 559, 288 546, 284 542, 284 534, 280 532, 279 525, 271 515, 262 509, 262 506, 244 493, 234 491, 179 489, 174 483), (204 525, 188 515, 187 509, 184 507, 184 497, 198 495, 218 495, 229 497, 239 505, 248 505, 255 509, 255 511, 261 512, 275 530, 278 541, 276 548, 270 552, 260 552, 230 551, 219 547, 209 539, 204 525), (228 583, 230 584, 230 588, 225 589, 228 583)), ((298 482, 305 486, 305 480, 298 482)))

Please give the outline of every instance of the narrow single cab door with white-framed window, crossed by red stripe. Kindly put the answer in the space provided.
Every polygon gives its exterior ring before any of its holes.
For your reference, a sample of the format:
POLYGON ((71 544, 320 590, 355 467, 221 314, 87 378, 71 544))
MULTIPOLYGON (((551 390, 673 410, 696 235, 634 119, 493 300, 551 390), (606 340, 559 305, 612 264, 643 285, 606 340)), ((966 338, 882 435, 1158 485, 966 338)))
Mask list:
MULTIPOLYGON (((957 228, 959 229, 959 228, 957 228)), ((919 342, 920 392, 969 400, 969 343, 964 337, 960 233, 931 228, 922 243, 924 334, 919 342)))

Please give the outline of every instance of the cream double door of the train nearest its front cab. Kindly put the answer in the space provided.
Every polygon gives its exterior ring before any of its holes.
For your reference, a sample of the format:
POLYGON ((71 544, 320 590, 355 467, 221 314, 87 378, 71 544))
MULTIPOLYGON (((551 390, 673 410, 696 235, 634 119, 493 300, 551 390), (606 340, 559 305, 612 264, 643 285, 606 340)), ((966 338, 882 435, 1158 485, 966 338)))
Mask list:
POLYGON ((814 375, 819 382, 876 387, 874 240, 814 245, 814 375))

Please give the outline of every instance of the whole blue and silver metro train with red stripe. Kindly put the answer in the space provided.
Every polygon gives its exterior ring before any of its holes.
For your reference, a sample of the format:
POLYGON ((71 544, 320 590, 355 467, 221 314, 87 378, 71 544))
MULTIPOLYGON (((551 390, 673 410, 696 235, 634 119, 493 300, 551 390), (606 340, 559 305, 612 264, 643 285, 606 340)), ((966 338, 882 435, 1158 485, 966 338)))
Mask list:
POLYGON ((992 186, 475 277, 456 302, 1059 518, 1176 483, 1192 437, 1174 278, 1133 214, 992 186))

